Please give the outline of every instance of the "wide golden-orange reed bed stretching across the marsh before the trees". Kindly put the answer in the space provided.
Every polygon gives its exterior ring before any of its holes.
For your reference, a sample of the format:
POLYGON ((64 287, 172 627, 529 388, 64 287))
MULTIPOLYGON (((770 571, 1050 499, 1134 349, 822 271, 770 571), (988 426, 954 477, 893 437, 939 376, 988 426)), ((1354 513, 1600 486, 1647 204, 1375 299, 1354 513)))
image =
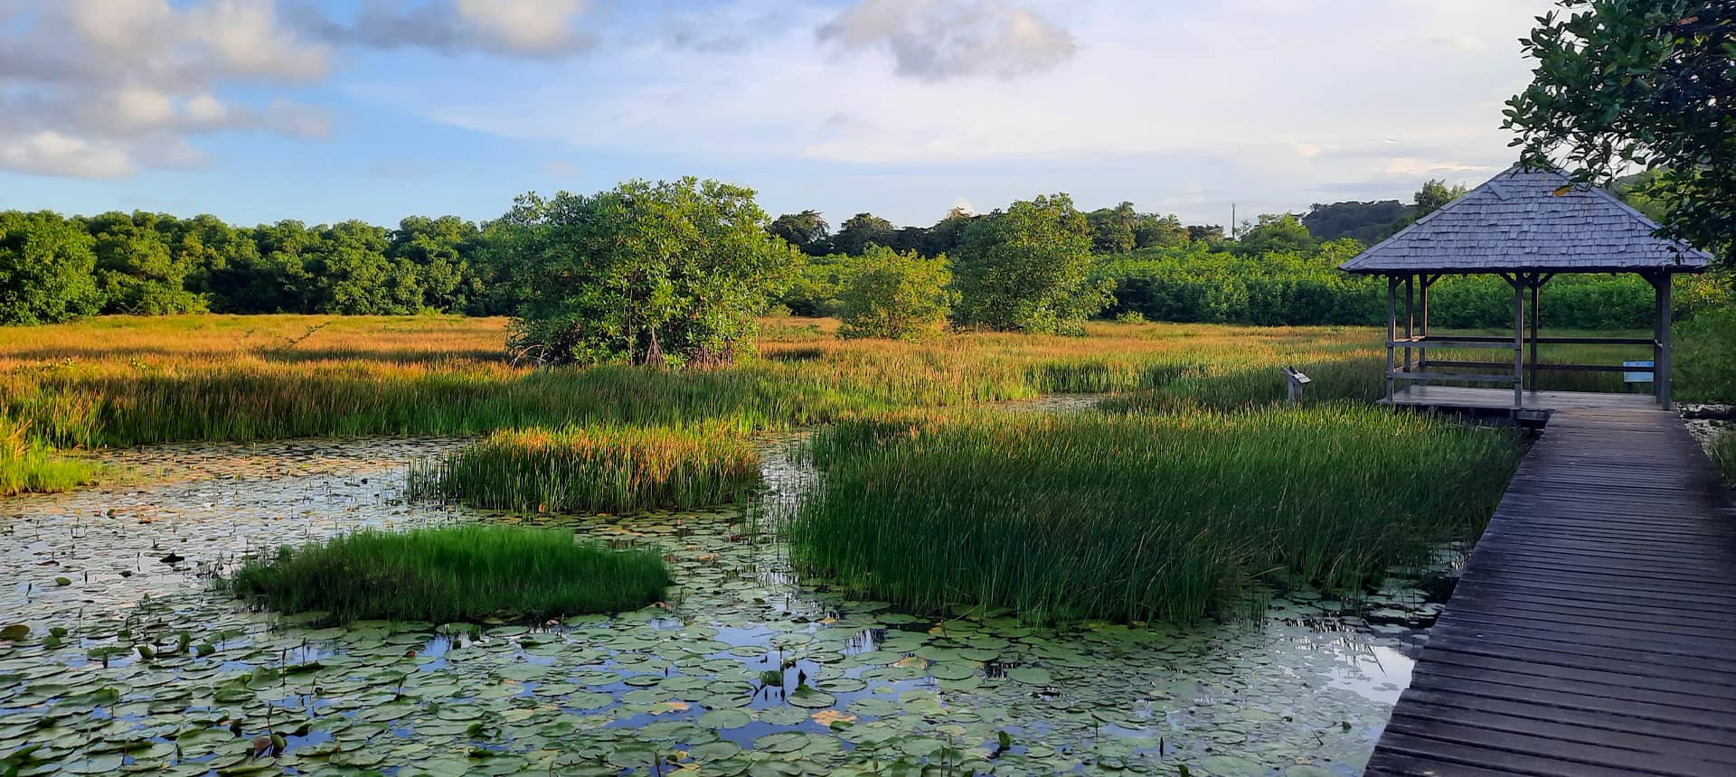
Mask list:
MULTIPOLYGON (((1151 406, 1278 401, 1278 366, 1314 401, 1384 392, 1382 333, 1344 326, 1090 323, 1087 336, 962 333, 929 343, 840 342, 832 319, 766 319, 760 359, 707 371, 536 369, 505 357, 505 319, 443 316, 101 317, 0 330, 0 418, 40 454, 3 465, 26 489, 66 482, 52 449, 318 435, 488 434, 575 425, 719 423, 778 430, 911 408, 1043 394, 1146 394, 1151 406)), ((1684 401, 1727 366, 1693 364, 1684 401)), ((1710 330, 1708 330, 1710 331, 1710 330)), ((1700 336, 1700 335, 1696 335, 1700 336)), ((1701 340, 1717 340, 1701 336, 1701 340)), ((1644 350, 1644 349, 1641 349, 1644 350)), ((1460 356, 1460 354, 1444 354, 1460 356)), ((1467 352, 1467 357, 1484 357, 1467 352)), ((1646 357, 1545 347, 1545 361, 1646 357)), ((1613 375, 1543 373, 1545 388, 1620 390, 1613 375), (1588 380, 1597 382, 1587 383, 1588 380)))

